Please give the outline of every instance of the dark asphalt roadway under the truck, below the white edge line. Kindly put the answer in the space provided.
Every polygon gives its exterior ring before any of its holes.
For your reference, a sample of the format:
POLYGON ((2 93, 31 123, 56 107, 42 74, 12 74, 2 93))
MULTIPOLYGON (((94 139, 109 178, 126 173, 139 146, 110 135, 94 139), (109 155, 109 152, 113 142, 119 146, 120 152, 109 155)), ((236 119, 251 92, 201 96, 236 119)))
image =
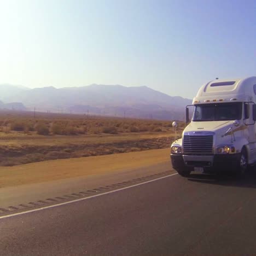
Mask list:
POLYGON ((0 219, 1 255, 256 253, 256 177, 168 176, 0 219))

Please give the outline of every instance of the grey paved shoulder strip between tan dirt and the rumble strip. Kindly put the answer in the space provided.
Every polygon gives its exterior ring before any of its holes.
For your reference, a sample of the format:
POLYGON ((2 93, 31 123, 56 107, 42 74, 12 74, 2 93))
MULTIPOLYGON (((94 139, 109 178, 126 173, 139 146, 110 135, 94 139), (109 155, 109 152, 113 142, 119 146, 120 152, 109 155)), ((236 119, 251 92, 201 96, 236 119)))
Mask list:
MULTIPOLYGON (((106 167, 107 168, 107 167, 106 167)), ((90 176, 81 176, 76 178, 60 179, 58 181, 49 181, 34 184, 25 184, 14 187, 0 187, 0 214, 2 208, 9 206, 18 207, 27 205, 28 202, 38 202, 50 198, 61 197, 79 193, 79 191, 93 190, 99 187, 106 187, 136 178, 162 173, 165 171, 173 172, 170 160, 144 166, 140 168, 129 168, 127 170, 118 170, 115 172, 106 172, 106 174, 96 174, 90 176)))

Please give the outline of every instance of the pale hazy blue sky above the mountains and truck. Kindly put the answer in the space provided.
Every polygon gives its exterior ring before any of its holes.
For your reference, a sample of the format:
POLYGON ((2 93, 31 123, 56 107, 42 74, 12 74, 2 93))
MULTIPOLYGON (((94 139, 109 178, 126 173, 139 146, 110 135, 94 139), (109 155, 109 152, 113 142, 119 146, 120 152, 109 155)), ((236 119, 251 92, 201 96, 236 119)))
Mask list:
POLYGON ((193 97, 256 75, 256 1, 0 0, 0 83, 147 85, 193 97))

